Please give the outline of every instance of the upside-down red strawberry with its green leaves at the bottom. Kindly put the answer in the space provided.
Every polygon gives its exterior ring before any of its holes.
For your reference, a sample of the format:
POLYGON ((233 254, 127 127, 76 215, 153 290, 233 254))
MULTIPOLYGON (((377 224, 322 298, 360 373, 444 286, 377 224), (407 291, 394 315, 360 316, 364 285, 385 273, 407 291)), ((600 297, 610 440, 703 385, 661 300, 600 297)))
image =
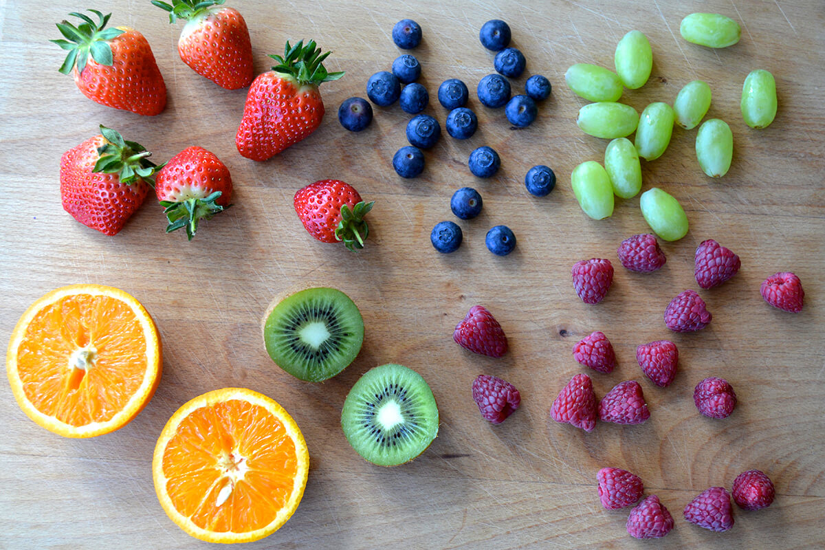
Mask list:
POLYGON ((186 228, 192 240, 198 220, 229 208, 232 176, 218 157, 202 147, 188 147, 172 157, 155 179, 155 194, 169 220, 166 232, 186 228))

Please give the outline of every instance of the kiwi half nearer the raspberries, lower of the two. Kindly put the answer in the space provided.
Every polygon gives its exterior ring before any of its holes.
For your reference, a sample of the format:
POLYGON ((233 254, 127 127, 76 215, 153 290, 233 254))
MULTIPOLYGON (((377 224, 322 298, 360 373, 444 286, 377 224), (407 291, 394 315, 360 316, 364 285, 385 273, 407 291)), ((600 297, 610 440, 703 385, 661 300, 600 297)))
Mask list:
POLYGON ((436 398, 421 374, 401 364, 382 364, 352 386, 341 427, 365 460, 398 466, 422 454, 436 439, 436 398))

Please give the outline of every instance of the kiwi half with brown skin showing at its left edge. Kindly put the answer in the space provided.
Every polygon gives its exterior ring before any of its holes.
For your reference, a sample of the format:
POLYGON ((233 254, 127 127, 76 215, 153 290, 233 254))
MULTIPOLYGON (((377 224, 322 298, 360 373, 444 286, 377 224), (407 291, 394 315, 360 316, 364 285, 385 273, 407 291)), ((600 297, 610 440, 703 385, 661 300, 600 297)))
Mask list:
POLYGON ((305 289, 270 308, 263 341, 281 369, 307 382, 321 382, 355 360, 364 343, 364 319, 340 290, 305 289))

